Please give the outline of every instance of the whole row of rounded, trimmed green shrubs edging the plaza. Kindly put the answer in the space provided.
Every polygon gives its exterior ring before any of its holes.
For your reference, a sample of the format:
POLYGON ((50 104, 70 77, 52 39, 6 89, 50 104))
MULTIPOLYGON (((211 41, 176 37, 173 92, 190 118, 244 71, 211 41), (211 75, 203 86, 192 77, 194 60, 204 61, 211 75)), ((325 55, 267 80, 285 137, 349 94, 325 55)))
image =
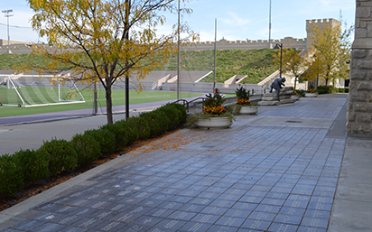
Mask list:
POLYGON ((0 196, 12 196, 37 180, 97 161, 102 155, 123 150, 136 140, 162 135, 186 123, 186 118, 182 105, 167 104, 113 125, 87 130, 70 141, 54 138, 44 141, 38 150, 4 154, 0 156, 0 196))

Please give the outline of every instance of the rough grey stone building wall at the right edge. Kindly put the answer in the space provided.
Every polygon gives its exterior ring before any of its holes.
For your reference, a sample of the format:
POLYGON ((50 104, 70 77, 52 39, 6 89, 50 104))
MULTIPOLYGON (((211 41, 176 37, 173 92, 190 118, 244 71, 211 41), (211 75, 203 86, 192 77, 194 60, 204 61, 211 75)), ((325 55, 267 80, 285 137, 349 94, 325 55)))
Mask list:
POLYGON ((372 135, 372 0, 357 0, 350 68, 346 129, 372 135))

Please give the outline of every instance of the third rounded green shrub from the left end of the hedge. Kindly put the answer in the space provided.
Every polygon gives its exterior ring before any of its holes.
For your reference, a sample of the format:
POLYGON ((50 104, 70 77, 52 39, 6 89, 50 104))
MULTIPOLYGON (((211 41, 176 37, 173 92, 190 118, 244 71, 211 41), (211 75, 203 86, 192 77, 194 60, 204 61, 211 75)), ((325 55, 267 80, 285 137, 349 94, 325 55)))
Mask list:
POLYGON ((72 171, 78 164, 78 155, 70 142, 53 139, 44 142, 39 150, 49 159, 49 172, 51 175, 63 171, 72 171))

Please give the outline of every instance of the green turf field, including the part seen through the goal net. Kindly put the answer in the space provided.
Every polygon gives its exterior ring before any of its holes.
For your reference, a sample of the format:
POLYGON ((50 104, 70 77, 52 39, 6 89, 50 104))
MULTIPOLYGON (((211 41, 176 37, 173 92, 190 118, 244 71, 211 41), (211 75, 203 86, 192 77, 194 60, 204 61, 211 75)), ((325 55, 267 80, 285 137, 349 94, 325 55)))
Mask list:
MULTIPOLYGON (((56 88, 57 89, 57 88, 56 88)), ((0 92, 0 102, 5 102, 8 100, 8 97, 14 95, 14 89, 1 89, 3 92, 0 92), (12 90, 12 91, 11 91, 12 90), (5 91, 9 91, 5 92, 5 91)), ((26 89, 24 88, 24 91, 26 89)), ((80 89, 81 90, 81 89, 80 89)), ((41 104, 45 102, 56 102, 58 101, 58 95, 55 92, 51 92, 50 88, 38 88, 37 90, 28 89, 25 91, 29 94, 28 101, 33 101, 33 104, 41 104), (41 94, 43 91, 48 92, 49 94, 41 94), (49 97, 50 99, 43 99, 42 97, 49 97)), ((42 114, 42 113, 51 113, 51 112, 59 112, 59 111, 69 111, 69 110, 76 110, 76 109, 86 109, 86 108, 93 108, 93 91, 92 90, 81 90, 83 97, 85 98, 84 103, 73 103, 73 104, 65 104, 65 105, 57 105, 57 106, 42 106, 42 107, 0 107, 0 117, 4 116, 25 116, 25 115, 33 115, 33 114, 42 114)), ((113 89, 112 90, 112 105, 113 106, 122 106, 126 105, 126 91, 123 89, 113 89)), ((202 94, 196 93, 180 93, 180 98, 187 98, 187 97, 203 97, 202 94)), ((79 96, 77 99, 80 98, 79 96)), ((177 92, 175 91, 142 91, 140 94, 137 94, 135 90, 130 90, 129 92, 129 104, 139 104, 139 103, 147 103, 147 102, 156 102, 156 101, 164 101, 164 100, 175 100, 177 99, 177 92)), ((106 107, 106 97, 105 97, 105 90, 98 89, 98 107, 106 107)))

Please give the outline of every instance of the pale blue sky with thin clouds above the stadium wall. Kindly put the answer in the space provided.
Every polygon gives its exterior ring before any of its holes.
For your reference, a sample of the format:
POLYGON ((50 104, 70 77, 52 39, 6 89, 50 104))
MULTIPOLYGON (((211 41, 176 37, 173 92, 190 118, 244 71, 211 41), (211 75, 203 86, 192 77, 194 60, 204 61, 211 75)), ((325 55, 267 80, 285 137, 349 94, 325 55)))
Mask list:
MULTIPOLYGON (((10 40, 23 42, 46 42, 31 28, 33 11, 26 0, 0 0, 0 10, 13 10, 9 17, 10 40)), ((195 32, 200 33, 200 42, 213 42, 215 20, 217 19, 217 40, 229 41, 268 40, 270 0, 189 0, 183 4, 191 8, 191 15, 185 20, 195 32)), ((306 20, 342 19, 350 25, 355 23, 355 0, 271 0, 271 39, 284 37, 306 38, 306 20)), ((167 32, 171 24, 177 23, 176 16, 170 16, 167 24, 158 32, 167 32)), ((0 14, 0 39, 7 40, 7 18, 0 14)))

